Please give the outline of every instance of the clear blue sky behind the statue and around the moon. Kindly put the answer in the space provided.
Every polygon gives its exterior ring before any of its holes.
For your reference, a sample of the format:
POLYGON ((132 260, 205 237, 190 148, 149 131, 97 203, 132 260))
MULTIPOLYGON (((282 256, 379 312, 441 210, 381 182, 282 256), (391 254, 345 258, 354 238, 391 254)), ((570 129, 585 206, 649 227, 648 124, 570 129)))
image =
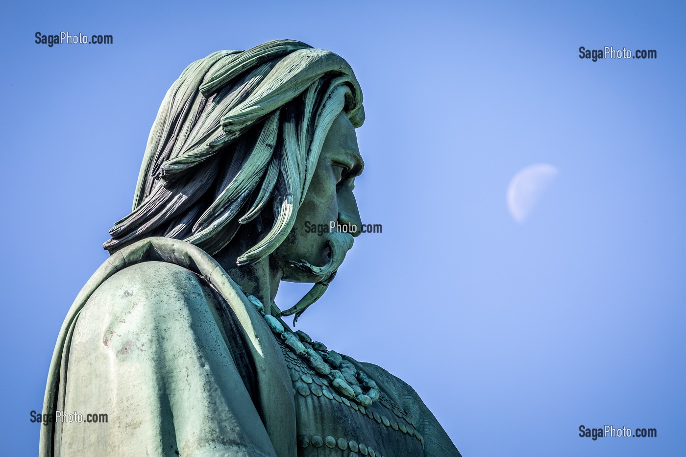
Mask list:
MULTIPOLYGON (((0 436, 35 455, 62 319, 130 210, 161 100, 218 49, 294 38, 364 91, 355 241, 298 327, 411 384, 464 456, 672 456, 686 401, 686 23, 662 2, 12 3, 0 27, 0 436), (34 43, 36 32, 112 45, 34 43), (656 49, 655 60, 578 48, 656 49), (559 174, 523 224, 506 189, 559 174), (579 425, 657 438, 578 436, 579 425)), ((303 288, 283 288, 289 307, 303 288)))

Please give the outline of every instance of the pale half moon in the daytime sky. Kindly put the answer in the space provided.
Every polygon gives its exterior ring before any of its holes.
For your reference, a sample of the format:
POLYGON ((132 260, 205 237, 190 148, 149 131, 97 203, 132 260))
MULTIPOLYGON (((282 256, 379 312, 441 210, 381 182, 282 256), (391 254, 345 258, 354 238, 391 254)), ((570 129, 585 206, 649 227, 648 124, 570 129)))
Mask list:
POLYGON ((512 219, 522 224, 557 175, 558 169, 549 163, 534 163, 519 170, 508 186, 507 202, 512 219))

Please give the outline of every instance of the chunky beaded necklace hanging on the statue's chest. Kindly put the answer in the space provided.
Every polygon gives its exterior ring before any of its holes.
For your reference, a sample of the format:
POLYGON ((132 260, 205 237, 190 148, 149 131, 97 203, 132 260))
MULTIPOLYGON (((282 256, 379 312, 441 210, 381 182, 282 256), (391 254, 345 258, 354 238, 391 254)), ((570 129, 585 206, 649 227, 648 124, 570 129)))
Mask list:
POLYGON ((285 346, 298 358, 305 360, 316 373, 328 377, 331 386, 341 397, 365 408, 379 399, 379 387, 374 379, 359 371, 351 362, 343 360, 338 352, 329 351, 323 343, 312 341, 304 331, 291 331, 279 319, 265 314, 264 305, 256 296, 248 295, 248 300, 255 305, 276 338, 281 338, 285 346))

